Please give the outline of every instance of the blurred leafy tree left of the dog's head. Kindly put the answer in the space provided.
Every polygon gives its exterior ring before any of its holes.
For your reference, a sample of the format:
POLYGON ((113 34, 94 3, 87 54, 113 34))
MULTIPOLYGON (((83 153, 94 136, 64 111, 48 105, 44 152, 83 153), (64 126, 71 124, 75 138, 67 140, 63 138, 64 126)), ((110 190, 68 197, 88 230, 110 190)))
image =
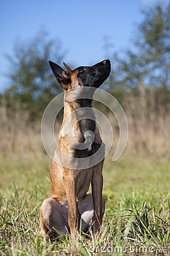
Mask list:
POLYGON ((41 117, 42 110, 61 90, 49 68, 48 60, 61 63, 64 55, 61 43, 49 40, 45 31, 38 32, 27 42, 18 39, 14 55, 7 56, 11 81, 10 88, 5 92, 8 104, 12 98, 31 114, 31 119, 41 117))

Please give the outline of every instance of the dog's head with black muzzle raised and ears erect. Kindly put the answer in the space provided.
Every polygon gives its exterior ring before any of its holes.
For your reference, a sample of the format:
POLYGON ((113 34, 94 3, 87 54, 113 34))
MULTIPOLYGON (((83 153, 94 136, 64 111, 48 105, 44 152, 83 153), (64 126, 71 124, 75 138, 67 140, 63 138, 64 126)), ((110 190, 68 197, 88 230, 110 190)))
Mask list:
POLYGON ((111 61, 103 60, 90 67, 78 67, 71 70, 64 62, 66 71, 49 61, 50 68, 63 90, 91 86, 98 88, 111 72, 111 61))

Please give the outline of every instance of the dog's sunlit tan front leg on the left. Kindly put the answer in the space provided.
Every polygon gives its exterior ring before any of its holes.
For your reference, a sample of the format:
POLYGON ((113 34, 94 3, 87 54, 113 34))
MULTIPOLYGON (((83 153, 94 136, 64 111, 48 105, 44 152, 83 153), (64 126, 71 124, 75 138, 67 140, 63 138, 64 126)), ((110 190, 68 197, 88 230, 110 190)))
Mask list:
POLYGON ((68 201, 68 224, 71 237, 79 230, 78 202, 76 200, 76 177, 73 170, 67 170, 64 175, 66 195, 68 201))

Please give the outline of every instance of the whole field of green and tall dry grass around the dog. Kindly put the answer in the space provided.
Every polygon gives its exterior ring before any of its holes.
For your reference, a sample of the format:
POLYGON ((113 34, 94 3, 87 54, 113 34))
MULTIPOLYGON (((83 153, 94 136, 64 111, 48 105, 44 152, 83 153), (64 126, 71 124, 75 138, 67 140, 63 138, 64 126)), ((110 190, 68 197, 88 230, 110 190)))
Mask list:
MULTIPOLYGON (((3 114, 3 110, 2 113, 3 114)), ((39 126, 19 113, 8 125, 2 115, 0 155, 1 255, 170 255, 169 117, 140 118, 124 154, 105 159, 106 210, 97 236, 80 234, 48 241, 39 228, 39 210, 50 189, 51 159, 42 147, 39 126), (140 128, 140 129, 139 129, 140 128), (138 135, 135 137, 136 131, 138 135), (140 141, 140 143, 138 143, 140 141)))

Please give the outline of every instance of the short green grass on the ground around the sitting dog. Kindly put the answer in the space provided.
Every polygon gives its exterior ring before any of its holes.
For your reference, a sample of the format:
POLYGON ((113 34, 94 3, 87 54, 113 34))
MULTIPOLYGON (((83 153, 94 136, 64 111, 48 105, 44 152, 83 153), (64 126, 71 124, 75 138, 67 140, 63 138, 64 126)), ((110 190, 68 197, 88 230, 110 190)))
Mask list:
POLYGON ((50 159, 8 158, 1 156, 1 255, 170 255, 169 160, 108 157, 100 234, 48 241, 40 234, 39 209, 50 189, 50 159))

